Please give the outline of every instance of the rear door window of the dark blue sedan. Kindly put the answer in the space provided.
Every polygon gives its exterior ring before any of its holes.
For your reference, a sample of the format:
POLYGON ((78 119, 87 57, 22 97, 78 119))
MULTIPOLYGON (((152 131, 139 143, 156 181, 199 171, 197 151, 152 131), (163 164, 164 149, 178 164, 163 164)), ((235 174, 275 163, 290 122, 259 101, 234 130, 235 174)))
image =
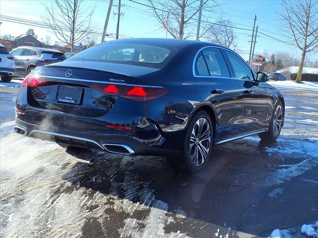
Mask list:
POLYGON ((220 49, 206 48, 202 50, 210 76, 230 77, 228 66, 223 58, 220 49))

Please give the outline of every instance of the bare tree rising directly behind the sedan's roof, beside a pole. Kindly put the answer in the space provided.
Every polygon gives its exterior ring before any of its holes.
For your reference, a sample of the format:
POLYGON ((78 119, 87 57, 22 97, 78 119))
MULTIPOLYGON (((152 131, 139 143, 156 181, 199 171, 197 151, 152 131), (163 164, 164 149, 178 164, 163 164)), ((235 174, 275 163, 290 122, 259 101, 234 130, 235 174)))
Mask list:
MULTIPOLYGON (((160 28, 166 30, 173 38, 187 39, 195 34, 200 0, 148 0, 151 14, 156 17, 160 28)), ((212 27, 207 22, 208 13, 220 4, 215 0, 203 0, 202 24, 200 37, 212 27)))

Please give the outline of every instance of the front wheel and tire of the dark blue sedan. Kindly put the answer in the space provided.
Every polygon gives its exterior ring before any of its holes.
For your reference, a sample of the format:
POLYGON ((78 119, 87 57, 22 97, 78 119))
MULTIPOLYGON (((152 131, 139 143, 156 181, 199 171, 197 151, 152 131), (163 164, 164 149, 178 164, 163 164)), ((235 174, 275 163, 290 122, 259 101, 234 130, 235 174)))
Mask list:
POLYGON ((284 108, 283 108, 282 102, 278 101, 274 107, 273 114, 270 119, 268 131, 259 133, 258 134, 259 138, 261 138, 262 141, 266 141, 266 142, 276 141, 280 135, 283 123, 284 123, 284 108), (281 111, 281 117, 278 116, 279 110, 281 111), (279 126, 279 123, 280 123, 280 126, 279 126))

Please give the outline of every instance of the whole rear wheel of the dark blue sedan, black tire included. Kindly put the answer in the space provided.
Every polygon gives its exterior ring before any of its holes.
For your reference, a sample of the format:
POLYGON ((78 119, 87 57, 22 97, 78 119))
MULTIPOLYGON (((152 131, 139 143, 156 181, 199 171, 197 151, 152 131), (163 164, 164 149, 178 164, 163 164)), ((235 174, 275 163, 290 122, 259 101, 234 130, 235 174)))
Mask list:
POLYGON ((180 156, 168 157, 168 164, 177 171, 191 174, 202 171, 211 155, 213 132, 213 124, 209 115, 204 111, 196 113, 186 129, 180 156), (202 127, 200 127, 200 123, 202 127), (196 136, 196 132, 198 136, 196 136))

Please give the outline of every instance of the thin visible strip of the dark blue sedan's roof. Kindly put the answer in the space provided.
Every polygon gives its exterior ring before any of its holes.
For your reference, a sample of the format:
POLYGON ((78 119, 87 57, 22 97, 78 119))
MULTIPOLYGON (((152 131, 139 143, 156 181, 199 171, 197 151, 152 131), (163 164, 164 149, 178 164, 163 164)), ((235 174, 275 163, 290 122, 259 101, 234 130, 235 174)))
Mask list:
MULTIPOLYGON (((221 45, 217 45, 214 43, 210 42, 203 42, 203 41, 194 41, 194 40, 179 40, 179 39, 165 39, 165 38, 129 38, 129 39, 119 39, 119 40, 111 40, 111 41, 105 41, 101 44, 107 44, 108 42, 123 42, 123 43, 153 43, 153 44, 158 44, 158 45, 165 45, 165 46, 170 46, 177 48, 179 46, 182 46, 184 44, 190 43, 191 45, 206 45, 206 46, 218 46, 218 47, 223 47, 221 45)), ((227 48, 226 48, 227 49, 227 48)))

